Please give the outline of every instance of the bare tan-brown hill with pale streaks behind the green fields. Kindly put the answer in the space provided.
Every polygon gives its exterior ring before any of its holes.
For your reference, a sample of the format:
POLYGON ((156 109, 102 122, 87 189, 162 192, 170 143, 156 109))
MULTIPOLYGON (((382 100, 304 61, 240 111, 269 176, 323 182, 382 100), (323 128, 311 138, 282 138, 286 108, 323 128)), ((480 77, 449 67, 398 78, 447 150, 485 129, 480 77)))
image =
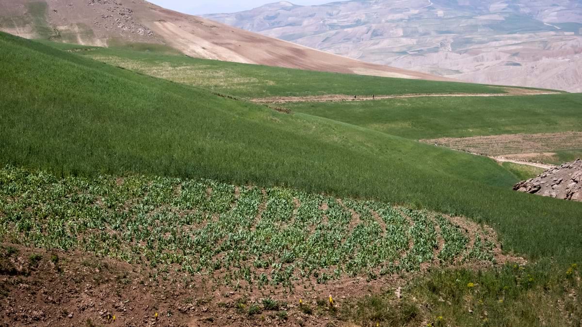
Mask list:
POLYGON ((342 56, 161 8, 143 0, 0 1, 0 30, 84 45, 147 43, 186 55, 326 72, 447 80, 342 56))

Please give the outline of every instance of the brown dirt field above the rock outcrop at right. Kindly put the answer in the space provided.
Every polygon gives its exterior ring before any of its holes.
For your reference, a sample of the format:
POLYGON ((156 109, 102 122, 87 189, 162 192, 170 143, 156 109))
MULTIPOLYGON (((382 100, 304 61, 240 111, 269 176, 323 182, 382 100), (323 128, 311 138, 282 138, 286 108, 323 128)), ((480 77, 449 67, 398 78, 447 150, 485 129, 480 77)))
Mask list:
POLYGON ((579 148, 582 144, 582 132, 541 134, 506 134, 475 137, 445 137, 421 140, 423 143, 441 145, 455 150, 472 152, 495 157, 516 160, 552 157, 556 150, 579 148))

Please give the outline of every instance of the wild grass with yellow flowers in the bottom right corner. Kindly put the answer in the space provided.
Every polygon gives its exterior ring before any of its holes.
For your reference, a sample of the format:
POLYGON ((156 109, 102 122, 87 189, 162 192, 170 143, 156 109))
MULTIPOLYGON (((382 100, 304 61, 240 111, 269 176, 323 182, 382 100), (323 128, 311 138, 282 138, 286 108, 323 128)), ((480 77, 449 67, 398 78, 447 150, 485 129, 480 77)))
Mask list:
POLYGON ((580 281, 549 261, 498 269, 439 269, 420 277, 402 294, 374 294, 343 308, 358 325, 567 326, 582 318, 580 281), (548 305, 548 303, 560 303, 548 305))

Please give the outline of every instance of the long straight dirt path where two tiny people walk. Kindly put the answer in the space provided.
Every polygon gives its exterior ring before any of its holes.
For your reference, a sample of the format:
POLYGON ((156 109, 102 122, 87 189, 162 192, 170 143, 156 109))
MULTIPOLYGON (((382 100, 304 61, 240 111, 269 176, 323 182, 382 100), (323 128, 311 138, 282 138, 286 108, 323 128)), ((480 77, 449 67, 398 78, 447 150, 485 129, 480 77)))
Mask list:
POLYGON ((403 99, 403 98, 420 98, 420 97, 508 97, 515 95, 546 95, 546 94, 560 94, 559 92, 543 91, 543 90, 529 90, 522 88, 505 88, 507 93, 453 93, 453 94, 401 94, 401 95, 377 95, 358 96, 354 98, 353 95, 313 95, 308 97, 271 97, 271 98, 256 98, 251 99, 257 103, 271 103, 271 104, 286 104, 293 102, 339 102, 339 101, 371 101, 381 99, 403 99))

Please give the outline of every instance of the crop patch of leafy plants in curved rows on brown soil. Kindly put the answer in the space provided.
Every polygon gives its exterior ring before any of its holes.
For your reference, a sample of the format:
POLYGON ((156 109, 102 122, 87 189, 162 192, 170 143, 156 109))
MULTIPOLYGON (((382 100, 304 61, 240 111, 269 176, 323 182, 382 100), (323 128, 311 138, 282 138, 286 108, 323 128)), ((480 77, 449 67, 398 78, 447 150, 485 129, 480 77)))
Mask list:
POLYGON ((325 284, 496 261, 492 232, 426 211, 212 180, 0 170, 3 241, 211 276, 229 289, 325 284), (467 227, 469 226, 469 227, 467 227))

